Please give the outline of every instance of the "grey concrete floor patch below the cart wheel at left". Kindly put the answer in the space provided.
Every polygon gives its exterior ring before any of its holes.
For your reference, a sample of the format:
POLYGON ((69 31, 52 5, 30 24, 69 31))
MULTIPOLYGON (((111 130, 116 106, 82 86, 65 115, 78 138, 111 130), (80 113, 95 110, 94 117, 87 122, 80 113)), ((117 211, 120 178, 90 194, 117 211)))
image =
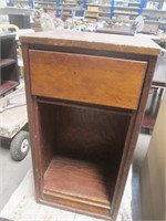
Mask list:
POLYGON ((10 156, 9 143, 0 145, 0 211, 18 188, 31 168, 31 154, 22 161, 14 161, 10 156))

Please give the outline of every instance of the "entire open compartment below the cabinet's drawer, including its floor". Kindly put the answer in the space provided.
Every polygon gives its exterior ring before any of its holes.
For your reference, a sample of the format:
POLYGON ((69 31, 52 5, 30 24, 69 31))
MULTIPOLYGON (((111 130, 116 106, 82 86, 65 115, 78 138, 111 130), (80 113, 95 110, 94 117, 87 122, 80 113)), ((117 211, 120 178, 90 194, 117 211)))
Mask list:
POLYGON ((128 113, 38 101, 41 201, 108 218, 128 113))

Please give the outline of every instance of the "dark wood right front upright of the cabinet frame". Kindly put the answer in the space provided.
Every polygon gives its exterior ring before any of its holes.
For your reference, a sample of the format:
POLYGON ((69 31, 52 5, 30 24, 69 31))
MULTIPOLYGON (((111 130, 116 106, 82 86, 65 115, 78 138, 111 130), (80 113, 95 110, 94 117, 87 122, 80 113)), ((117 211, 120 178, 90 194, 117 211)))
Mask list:
POLYGON ((143 91, 142 91, 142 95, 139 99, 138 110, 136 115, 133 115, 132 120, 131 120, 128 135, 125 143, 125 150, 123 154, 123 159, 122 159, 120 173, 117 178, 113 210, 111 213, 111 215, 113 217, 113 220, 116 220, 117 211, 121 203, 121 196, 123 196, 123 192, 124 192, 127 175, 128 175, 131 162, 133 159, 134 149, 137 143, 138 134, 141 131, 142 118, 144 116, 143 113, 145 110, 146 101, 148 97, 148 91, 152 84, 156 61, 157 61, 157 57, 155 56, 149 57, 149 63, 146 71, 143 91))

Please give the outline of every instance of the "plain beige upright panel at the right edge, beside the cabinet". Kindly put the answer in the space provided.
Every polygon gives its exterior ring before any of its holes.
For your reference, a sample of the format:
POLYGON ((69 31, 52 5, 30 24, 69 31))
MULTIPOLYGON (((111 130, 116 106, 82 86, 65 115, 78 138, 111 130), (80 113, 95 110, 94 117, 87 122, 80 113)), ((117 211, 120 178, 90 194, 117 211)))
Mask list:
POLYGON ((166 220, 166 93, 141 169, 143 220, 166 220))

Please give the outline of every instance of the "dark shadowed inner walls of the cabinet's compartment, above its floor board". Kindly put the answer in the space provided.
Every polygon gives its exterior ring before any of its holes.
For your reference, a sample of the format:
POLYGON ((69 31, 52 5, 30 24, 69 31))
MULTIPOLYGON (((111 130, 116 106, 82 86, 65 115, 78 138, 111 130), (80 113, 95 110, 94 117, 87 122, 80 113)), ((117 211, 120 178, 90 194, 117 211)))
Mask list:
POLYGON ((38 108, 43 158, 53 148, 55 155, 120 164, 131 116, 43 103, 38 108))

